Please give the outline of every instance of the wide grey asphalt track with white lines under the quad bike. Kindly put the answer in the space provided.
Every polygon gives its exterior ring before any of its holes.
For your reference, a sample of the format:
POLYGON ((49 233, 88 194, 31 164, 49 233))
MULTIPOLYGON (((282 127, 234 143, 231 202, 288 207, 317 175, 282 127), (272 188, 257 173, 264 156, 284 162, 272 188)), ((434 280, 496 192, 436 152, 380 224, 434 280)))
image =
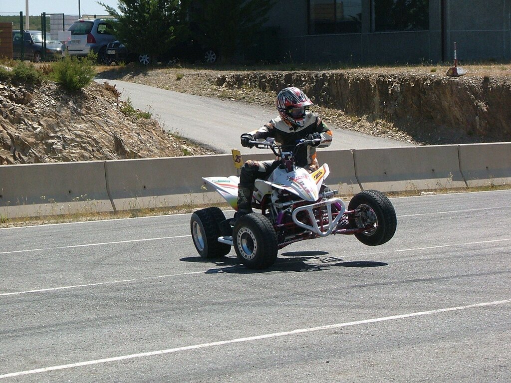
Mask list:
POLYGON ((190 214, 1 229, 0 380, 511 381, 510 198, 392 199, 389 243, 265 272, 198 257, 190 214))

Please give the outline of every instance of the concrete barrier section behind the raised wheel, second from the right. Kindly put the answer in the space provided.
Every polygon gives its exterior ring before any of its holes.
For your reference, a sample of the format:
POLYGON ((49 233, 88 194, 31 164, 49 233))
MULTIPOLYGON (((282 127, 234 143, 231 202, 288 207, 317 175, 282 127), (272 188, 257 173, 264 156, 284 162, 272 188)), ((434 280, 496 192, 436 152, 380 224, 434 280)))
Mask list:
POLYGON ((466 187, 456 145, 354 150, 364 190, 382 192, 466 187))

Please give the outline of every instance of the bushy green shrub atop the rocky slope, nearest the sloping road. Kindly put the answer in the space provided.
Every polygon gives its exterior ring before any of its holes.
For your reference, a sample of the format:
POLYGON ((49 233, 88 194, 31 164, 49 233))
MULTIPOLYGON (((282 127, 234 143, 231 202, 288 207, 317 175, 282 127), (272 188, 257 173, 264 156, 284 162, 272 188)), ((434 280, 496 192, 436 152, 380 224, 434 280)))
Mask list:
POLYGON ((76 91, 84 88, 92 82, 96 76, 94 56, 78 59, 76 56, 66 56, 63 60, 53 63, 53 80, 64 89, 76 91))

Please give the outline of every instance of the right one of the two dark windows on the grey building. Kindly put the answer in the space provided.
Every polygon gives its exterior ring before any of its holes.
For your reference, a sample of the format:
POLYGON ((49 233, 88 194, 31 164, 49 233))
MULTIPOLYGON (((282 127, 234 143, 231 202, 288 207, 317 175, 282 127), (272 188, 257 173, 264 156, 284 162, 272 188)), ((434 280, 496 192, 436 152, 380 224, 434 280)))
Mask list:
POLYGON ((429 30, 429 0, 372 0, 373 32, 429 30))

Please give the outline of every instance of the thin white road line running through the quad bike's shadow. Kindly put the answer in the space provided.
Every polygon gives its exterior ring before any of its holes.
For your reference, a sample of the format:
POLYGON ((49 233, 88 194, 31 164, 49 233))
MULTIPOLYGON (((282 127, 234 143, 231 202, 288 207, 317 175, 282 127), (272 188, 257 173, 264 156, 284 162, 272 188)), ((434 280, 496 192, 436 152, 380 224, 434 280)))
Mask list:
MULTIPOLYGON (((190 235, 185 235, 185 236, 190 236, 190 235)), ((174 238, 174 237, 170 237, 170 238, 174 238)), ((511 241, 511 238, 506 238, 504 240, 489 240, 489 241, 481 241, 481 242, 468 242, 468 243, 464 243, 464 244, 451 244, 451 245, 438 245, 438 246, 428 246, 428 247, 417 247, 417 248, 413 248, 413 249, 387 250, 387 251, 379 251, 379 252, 373 252, 373 253, 355 254, 355 255, 352 255, 352 257, 353 256, 366 256, 366 255, 380 255, 380 254, 400 253, 400 252, 404 252, 404 251, 430 250, 430 249, 439 249, 439 248, 456 247, 456 246, 480 245, 480 244, 488 244, 488 243, 496 243, 496 242, 506 242, 506 241, 511 241)), ((343 256, 343 258, 345 258, 345 257, 346 256, 343 256)), ((142 281, 142 280, 148 280, 148 279, 169 278, 169 277, 175 277, 175 276, 180 276, 180 275, 192 275, 192 274, 204 274, 204 273, 205 273, 204 271, 197 271, 197 272, 182 273, 182 274, 160 275, 160 276, 155 276, 155 277, 143 277, 143 278, 132 278, 132 279, 115 280, 115 281, 108 281, 108 282, 77 284, 77 285, 74 285, 74 286, 61 286, 61 287, 58 287, 58 288, 18 291, 18 292, 13 292, 13 293, 3 293, 3 294, 0 294, 0 297, 7 296, 7 295, 20 295, 20 294, 40 293, 40 292, 56 291, 56 290, 67 290, 67 289, 82 288, 82 287, 87 287, 87 286, 99 286, 99 285, 103 285, 103 284, 113 284, 113 283, 123 283, 123 282, 136 282, 136 281, 142 281)))

